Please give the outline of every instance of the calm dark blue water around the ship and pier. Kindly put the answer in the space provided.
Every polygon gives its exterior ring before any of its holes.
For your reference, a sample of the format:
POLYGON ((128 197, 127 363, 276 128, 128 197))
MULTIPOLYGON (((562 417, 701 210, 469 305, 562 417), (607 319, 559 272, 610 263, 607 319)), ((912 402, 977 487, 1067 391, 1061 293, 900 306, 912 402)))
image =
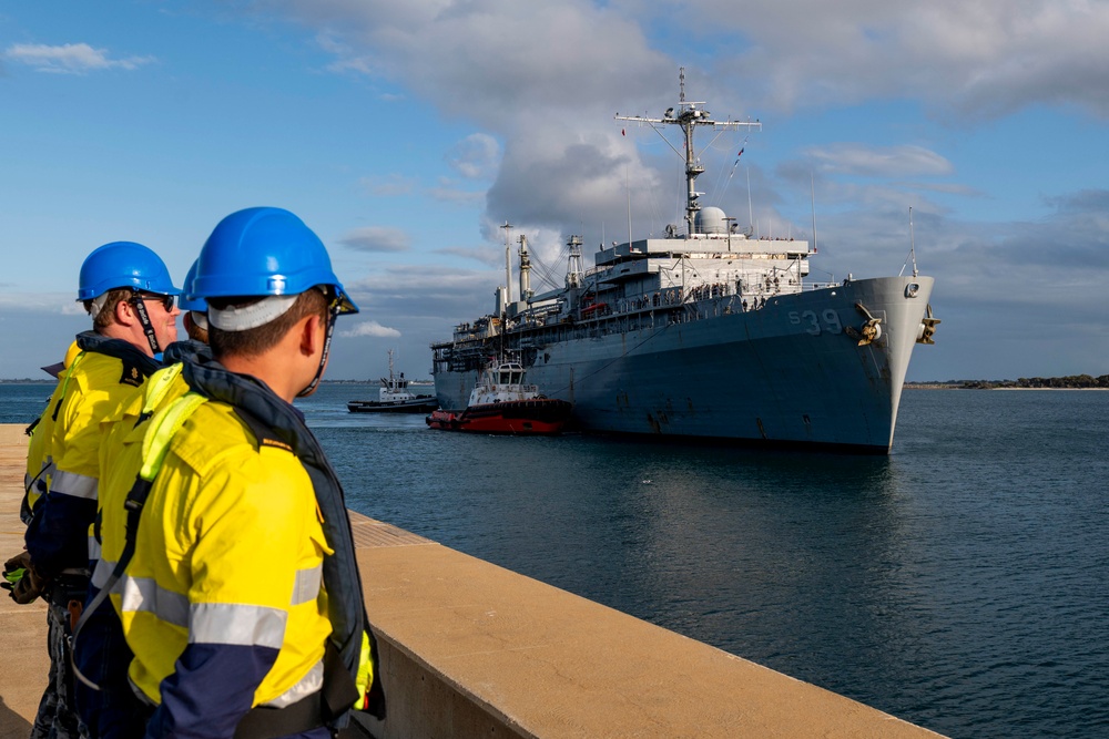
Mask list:
POLYGON ((374 392, 301 403, 355 510, 953 737, 1109 736, 1109 392, 909 390, 877 459, 346 412, 374 392))

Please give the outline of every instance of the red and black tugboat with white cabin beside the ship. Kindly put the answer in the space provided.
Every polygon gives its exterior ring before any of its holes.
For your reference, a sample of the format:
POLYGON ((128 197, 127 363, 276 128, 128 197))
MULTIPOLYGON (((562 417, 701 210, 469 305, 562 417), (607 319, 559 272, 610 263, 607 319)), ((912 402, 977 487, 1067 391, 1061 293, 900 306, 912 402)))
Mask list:
POLYGON ((523 365, 492 361, 481 372, 462 411, 437 410, 425 420, 433 429, 480 433, 557 434, 572 406, 547 398, 523 383, 523 365))

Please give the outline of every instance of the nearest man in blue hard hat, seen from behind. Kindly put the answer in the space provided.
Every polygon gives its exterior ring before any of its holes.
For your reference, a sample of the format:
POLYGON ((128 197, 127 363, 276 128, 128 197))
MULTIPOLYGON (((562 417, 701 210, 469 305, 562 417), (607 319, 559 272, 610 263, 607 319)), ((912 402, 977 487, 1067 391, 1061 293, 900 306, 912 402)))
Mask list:
POLYGON ((103 528, 105 552, 133 552, 110 591, 146 736, 322 739, 354 708, 384 716, 342 486, 292 404, 357 306, 281 208, 224 218, 193 294, 213 359, 186 359, 190 392, 129 437, 142 514, 103 528))

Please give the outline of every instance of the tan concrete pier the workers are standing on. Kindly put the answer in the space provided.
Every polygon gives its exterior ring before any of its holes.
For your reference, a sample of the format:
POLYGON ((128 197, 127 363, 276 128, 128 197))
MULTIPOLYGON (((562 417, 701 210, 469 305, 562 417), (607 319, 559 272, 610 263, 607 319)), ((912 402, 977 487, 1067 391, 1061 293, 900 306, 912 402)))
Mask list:
MULTIPOLYGON (((0 425, 0 555, 22 547, 26 437, 0 425)), ((378 739, 936 737, 627 614, 352 513, 389 700, 378 739)), ((0 598, 0 739, 47 676, 41 603, 0 598)), ((353 732, 352 732, 353 733, 353 732)))

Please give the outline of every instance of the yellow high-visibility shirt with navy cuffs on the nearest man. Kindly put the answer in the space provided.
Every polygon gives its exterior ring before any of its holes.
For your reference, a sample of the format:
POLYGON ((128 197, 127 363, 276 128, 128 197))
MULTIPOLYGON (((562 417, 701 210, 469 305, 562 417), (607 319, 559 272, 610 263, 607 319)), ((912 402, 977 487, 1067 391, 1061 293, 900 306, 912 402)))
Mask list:
MULTIPOLYGON (((144 427, 126 435, 113 479, 134 481, 144 427)), ((120 531, 105 511, 105 560, 119 556, 120 531)), ((292 451, 260 445, 228 404, 196 408, 170 442, 118 585, 131 680, 161 705, 160 725, 233 732, 253 706, 321 688, 332 632, 325 553, 315 493, 292 451)))

